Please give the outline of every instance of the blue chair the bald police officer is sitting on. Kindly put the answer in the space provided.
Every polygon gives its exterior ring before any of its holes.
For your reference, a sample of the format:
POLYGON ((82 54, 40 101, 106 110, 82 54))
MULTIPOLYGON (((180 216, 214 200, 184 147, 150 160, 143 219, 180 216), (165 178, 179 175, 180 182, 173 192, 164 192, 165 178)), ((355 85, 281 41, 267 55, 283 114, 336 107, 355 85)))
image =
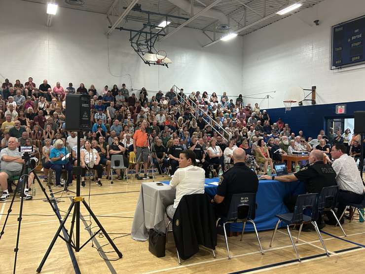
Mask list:
POLYGON ((219 220, 223 221, 223 231, 224 231, 224 239, 225 245, 227 247, 228 253, 228 260, 231 259, 231 255, 229 254, 229 247, 228 247, 228 238, 227 232, 225 230, 225 225, 229 223, 243 223, 242 233, 241 233, 241 241, 243 237, 243 233, 245 231, 246 222, 250 222, 253 224, 255 229, 255 234, 257 237, 258 245, 261 250, 261 254, 264 255, 260 238, 258 237, 258 233, 256 230, 256 225, 254 222, 255 219, 255 212, 256 212, 256 194, 255 193, 241 193, 241 194, 234 194, 231 198, 231 202, 229 204, 229 210, 227 213, 227 217, 219 216, 217 220, 217 226, 219 220))

